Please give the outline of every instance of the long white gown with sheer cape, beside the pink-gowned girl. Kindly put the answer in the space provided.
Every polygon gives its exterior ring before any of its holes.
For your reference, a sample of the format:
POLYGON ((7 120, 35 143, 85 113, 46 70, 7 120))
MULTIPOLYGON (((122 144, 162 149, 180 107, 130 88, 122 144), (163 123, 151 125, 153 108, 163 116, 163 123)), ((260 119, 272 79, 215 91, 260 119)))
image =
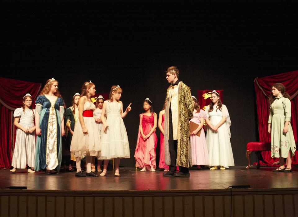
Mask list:
POLYGON ((216 126, 223 116, 226 116, 226 121, 218 128, 218 132, 212 131, 207 125, 206 142, 209 153, 209 165, 210 166, 234 166, 234 157, 231 147, 231 119, 228 113, 228 109, 225 105, 222 105, 222 111, 219 109, 216 111, 215 106, 213 111, 208 112, 209 106, 205 109, 207 113, 207 119, 210 118, 210 122, 213 126, 216 126))

